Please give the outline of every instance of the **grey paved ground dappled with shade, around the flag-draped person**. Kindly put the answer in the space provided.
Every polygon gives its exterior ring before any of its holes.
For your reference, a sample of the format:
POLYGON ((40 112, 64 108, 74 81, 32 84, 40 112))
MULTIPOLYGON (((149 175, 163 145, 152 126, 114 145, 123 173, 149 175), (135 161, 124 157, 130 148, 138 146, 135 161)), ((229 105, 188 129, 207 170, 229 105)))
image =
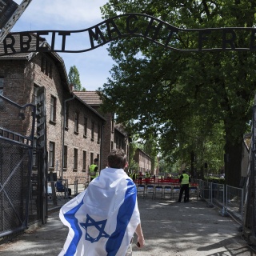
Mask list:
MULTIPOLYGON (((233 218, 223 217, 205 201, 177 203, 162 199, 138 198, 146 246, 134 256, 252 256, 233 218)), ((37 230, 27 230, 16 241, 0 245, 1 256, 57 256, 66 240, 66 226, 58 212, 37 230)), ((136 240, 136 238, 135 238, 136 240)))

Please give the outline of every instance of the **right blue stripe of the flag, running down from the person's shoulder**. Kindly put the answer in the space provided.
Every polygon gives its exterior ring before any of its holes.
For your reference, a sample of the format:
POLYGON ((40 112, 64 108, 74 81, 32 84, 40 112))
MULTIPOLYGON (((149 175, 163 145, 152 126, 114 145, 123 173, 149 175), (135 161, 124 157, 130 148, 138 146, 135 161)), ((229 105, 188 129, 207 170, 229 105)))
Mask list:
POLYGON ((107 256, 115 256, 117 254, 130 218, 134 212, 137 197, 136 186, 130 179, 127 179, 127 181, 125 200, 118 210, 116 230, 114 230, 113 234, 110 235, 110 238, 106 242, 107 256), (120 230, 122 230, 122 233, 120 233, 120 230))

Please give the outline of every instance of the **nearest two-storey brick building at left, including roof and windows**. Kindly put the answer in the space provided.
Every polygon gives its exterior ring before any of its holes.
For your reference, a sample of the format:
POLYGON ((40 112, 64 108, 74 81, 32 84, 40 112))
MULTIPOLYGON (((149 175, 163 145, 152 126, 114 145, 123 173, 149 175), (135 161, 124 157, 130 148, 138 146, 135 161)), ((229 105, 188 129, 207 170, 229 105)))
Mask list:
MULTIPOLYGON (((32 36, 31 45, 33 41, 35 45, 35 39, 32 36)), ((18 40, 17 35, 14 48, 20 47, 18 40)), ((43 43, 47 45, 46 41, 43 43)), ((3 53, 3 44, 0 44, 0 53, 3 53)), ((94 158, 99 158, 102 165, 106 119, 74 95, 58 54, 0 56, 0 94, 21 106, 33 103, 42 110, 45 136, 40 143, 48 153, 48 171, 53 171, 57 177, 68 178, 72 184, 76 176, 86 176, 94 158)), ((19 129, 26 130, 26 126, 19 129)), ((35 133, 38 142, 41 135, 35 133)))

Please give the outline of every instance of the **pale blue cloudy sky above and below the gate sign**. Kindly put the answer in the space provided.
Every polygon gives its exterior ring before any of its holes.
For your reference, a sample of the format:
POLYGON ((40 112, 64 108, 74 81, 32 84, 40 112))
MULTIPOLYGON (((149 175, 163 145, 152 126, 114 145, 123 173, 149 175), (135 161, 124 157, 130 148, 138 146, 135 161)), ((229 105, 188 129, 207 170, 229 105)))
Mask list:
MULTIPOLYGON (((14 0, 20 4, 22 0, 14 0)), ((107 0, 32 0, 11 32, 30 30, 83 30, 102 22, 99 9, 107 0)), ((66 72, 76 66, 82 87, 97 90, 110 77, 114 62, 108 56, 108 45, 85 53, 58 53, 66 72)))

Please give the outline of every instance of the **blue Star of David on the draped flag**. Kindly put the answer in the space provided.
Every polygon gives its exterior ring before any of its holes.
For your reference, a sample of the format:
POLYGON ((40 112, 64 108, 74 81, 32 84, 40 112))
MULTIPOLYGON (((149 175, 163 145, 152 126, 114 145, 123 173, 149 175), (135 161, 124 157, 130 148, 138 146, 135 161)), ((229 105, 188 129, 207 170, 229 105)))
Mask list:
POLYGON ((90 218, 88 214, 86 214, 86 223, 80 223, 80 225, 86 230, 86 240, 90 242, 98 242, 100 238, 109 238, 109 234, 106 234, 104 231, 106 226, 106 220, 95 222, 93 218, 90 218), (93 238, 88 234, 87 228, 90 226, 95 226, 95 228, 99 231, 98 237, 93 238))

